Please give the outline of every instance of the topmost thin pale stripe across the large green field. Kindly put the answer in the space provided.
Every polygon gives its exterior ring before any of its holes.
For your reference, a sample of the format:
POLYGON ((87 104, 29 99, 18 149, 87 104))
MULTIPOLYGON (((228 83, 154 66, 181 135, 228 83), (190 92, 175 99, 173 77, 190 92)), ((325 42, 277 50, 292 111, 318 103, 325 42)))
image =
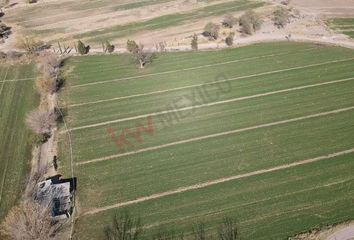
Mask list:
MULTIPOLYGON (((317 48, 316 47, 308 48, 308 49, 305 49, 305 50, 302 50, 302 51, 298 51, 298 52, 305 52, 305 51, 310 51, 310 50, 313 50, 313 49, 317 49, 317 48)), ((288 55, 288 54, 291 54, 291 53, 294 53, 294 52, 289 51, 289 52, 282 53, 282 54, 272 53, 272 54, 268 54, 268 55, 264 55, 264 56, 248 57, 248 58, 243 58, 243 59, 231 60, 231 61, 227 61, 227 62, 200 65, 200 66, 191 67, 191 68, 182 68, 182 69, 175 69, 175 70, 170 70, 170 71, 165 71, 165 72, 149 73, 149 74, 143 74, 143 75, 132 76, 132 77, 123 77, 123 78, 116 78, 116 79, 105 80, 105 81, 97 81, 97 82, 92 82, 92 83, 77 84, 77 85, 72 85, 71 88, 78 88, 78 87, 85 87, 85 86, 90 86, 90 85, 119 82, 119 81, 124 81, 124 80, 139 79, 139 78, 144 78, 144 77, 165 75, 165 74, 177 73, 177 72, 187 72, 187 71, 190 71, 190 70, 197 70, 197 69, 203 69, 203 68, 208 68, 208 67, 227 65, 227 64, 230 64, 230 63, 244 62, 244 61, 261 59, 261 58, 266 58, 266 57, 288 55)), ((352 58, 352 59, 354 59, 354 58, 352 58)))

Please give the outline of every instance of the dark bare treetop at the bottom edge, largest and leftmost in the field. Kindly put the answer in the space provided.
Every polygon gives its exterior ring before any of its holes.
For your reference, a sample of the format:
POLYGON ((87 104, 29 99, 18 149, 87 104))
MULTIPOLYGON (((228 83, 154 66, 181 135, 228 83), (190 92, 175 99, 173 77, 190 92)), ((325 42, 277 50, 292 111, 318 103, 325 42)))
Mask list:
POLYGON ((139 218, 132 218, 128 212, 117 213, 112 226, 106 228, 107 240, 138 240, 143 231, 139 218))

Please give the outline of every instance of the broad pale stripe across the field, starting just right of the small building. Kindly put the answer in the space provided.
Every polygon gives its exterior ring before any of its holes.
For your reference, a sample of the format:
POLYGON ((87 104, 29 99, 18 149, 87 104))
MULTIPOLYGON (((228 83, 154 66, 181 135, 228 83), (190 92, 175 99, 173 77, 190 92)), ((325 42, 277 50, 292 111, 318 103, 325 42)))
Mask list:
POLYGON ((171 195, 175 195, 175 194, 179 194, 179 193, 183 193, 183 192, 187 192, 187 191, 192 191, 192 190, 196 190, 196 189, 206 188, 206 187, 210 187, 210 186, 213 186, 216 184, 225 183, 225 182, 229 182, 229 181, 233 181, 233 180, 257 176, 257 175, 275 172, 275 171, 279 171, 279 170, 285 170, 285 169, 289 169, 289 168, 293 168, 293 167, 297 167, 297 166, 301 166, 301 165, 306 165, 306 164, 310 164, 310 163, 315 163, 315 162, 319 162, 319 161, 323 161, 323 160, 327 160, 327 159, 331 159, 331 158, 335 158, 335 157, 339 157, 339 156, 347 155, 347 154, 351 154, 351 153, 354 153, 354 148, 344 150, 341 152, 331 153, 328 155, 323 155, 323 156, 319 156, 319 157, 315 157, 315 158, 302 160, 299 162, 280 165, 280 166, 273 167, 273 168, 261 169, 261 170, 257 170, 257 171, 253 171, 253 172, 249 172, 249 173, 234 175, 231 177, 220 178, 220 179, 216 179, 216 180, 212 180, 212 181, 208 181, 208 182, 204 182, 204 183, 190 185, 187 187, 180 187, 175 190, 166 191, 166 192, 162 192, 162 193, 156 193, 156 194, 152 194, 152 195, 149 195, 146 197, 137 198, 135 200, 130 200, 130 201, 121 202, 121 203, 117 203, 117 204, 106 206, 106 207, 92 209, 90 211, 85 212, 81 216, 93 215, 93 214, 97 214, 97 213, 107 211, 110 209, 114 209, 114 208, 120 208, 120 207, 124 207, 124 206, 128 206, 128 205, 132 205, 132 204, 137 204, 137 203, 149 201, 149 200, 155 200, 155 199, 159 199, 162 197, 171 196, 171 195))

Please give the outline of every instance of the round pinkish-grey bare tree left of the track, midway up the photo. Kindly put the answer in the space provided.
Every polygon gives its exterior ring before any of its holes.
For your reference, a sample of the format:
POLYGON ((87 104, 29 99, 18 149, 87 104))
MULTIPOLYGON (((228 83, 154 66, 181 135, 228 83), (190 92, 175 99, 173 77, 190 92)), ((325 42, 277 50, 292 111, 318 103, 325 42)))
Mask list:
POLYGON ((26 125, 36 134, 49 135, 57 119, 58 115, 55 111, 46 111, 38 108, 27 115, 26 125))

